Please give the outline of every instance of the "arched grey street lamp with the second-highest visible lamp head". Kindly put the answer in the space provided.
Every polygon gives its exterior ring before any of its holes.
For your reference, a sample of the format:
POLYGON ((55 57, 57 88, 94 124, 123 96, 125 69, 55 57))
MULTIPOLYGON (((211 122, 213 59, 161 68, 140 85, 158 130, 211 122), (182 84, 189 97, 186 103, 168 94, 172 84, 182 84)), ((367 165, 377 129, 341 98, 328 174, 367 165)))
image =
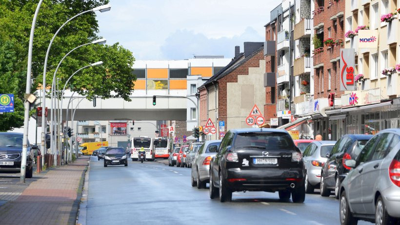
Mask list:
MULTIPOLYGON (((50 135, 51 135, 51 140, 50 140, 50 147, 51 147, 51 152, 54 154, 54 137, 55 137, 55 135, 53 134, 53 130, 54 130, 54 126, 55 126, 55 120, 53 119, 53 117, 54 117, 54 108, 53 108, 53 102, 54 102, 54 104, 55 104, 55 101, 56 101, 56 99, 54 98, 54 96, 55 96, 55 91, 54 91, 54 86, 56 85, 56 74, 57 74, 57 71, 59 70, 59 68, 60 68, 60 65, 61 65, 61 62, 62 61, 64 61, 64 59, 71 53, 71 52, 73 52, 73 51, 75 51, 76 49, 78 49, 78 48, 80 48, 80 47, 83 47, 83 46, 85 46, 85 45, 89 45, 89 44, 104 44, 106 42, 106 40, 104 39, 104 38, 102 38, 102 39, 98 39, 98 40, 96 40, 96 41, 91 41, 91 42, 89 42, 89 43, 85 43, 85 44, 82 44, 82 45, 80 45, 80 46, 78 46, 78 47, 76 47, 76 48, 74 48, 74 49, 72 49, 71 51, 69 51, 61 60, 60 60, 60 62, 59 62, 59 64, 57 65, 57 67, 56 67, 56 70, 54 71, 54 75, 53 75, 53 82, 52 82, 52 84, 51 84, 51 97, 50 97, 50 99, 51 99, 51 104, 50 104, 50 109, 51 109, 51 111, 50 111, 50 135)), ((56 125, 56 127, 57 127, 57 125, 56 125)), ((57 133, 60 131, 60 129, 57 129, 57 133)), ((60 144, 59 144, 59 147, 60 147, 60 144)), ((56 158, 56 157, 55 157, 56 158)))

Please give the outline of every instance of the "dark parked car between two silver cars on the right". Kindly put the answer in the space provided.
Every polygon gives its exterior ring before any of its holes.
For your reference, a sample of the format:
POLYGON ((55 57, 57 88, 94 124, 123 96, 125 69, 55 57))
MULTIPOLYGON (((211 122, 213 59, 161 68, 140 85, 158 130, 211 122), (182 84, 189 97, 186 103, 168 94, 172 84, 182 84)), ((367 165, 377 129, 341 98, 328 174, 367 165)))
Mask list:
POLYGON ((345 165, 346 160, 357 159, 361 149, 371 138, 372 135, 348 134, 339 139, 321 168, 321 196, 327 197, 334 190, 336 199, 339 199, 340 183, 350 171, 350 167, 345 165))

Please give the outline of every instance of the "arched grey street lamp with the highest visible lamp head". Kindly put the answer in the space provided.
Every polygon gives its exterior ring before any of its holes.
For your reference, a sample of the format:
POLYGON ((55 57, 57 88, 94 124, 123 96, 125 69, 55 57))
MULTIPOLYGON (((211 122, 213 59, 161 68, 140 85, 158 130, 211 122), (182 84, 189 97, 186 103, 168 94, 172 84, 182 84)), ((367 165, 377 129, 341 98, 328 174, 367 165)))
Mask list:
MULTIPOLYGON (((74 20, 76 17, 85 14, 85 13, 89 13, 89 12, 95 12, 95 11, 100 11, 100 12, 106 12, 109 11, 111 9, 111 5, 110 4, 106 4, 106 5, 101 5, 98 7, 95 7, 93 9, 81 12, 73 17, 71 17, 69 20, 67 20, 66 22, 64 22, 60 28, 56 31, 56 33, 53 35, 53 38, 50 40, 49 46, 47 47, 47 52, 46 52, 46 57, 44 58, 44 66, 43 66, 43 82, 42 82, 42 108, 43 110, 45 109, 46 106, 46 69, 47 69, 47 59, 49 58, 49 53, 50 53, 50 48, 51 45, 53 44, 54 39, 56 38, 57 34, 60 32, 61 28, 63 26, 65 26, 65 24, 67 24, 69 21, 74 20)), ((30 75, 30 74, 29 74, 30 75)), ((42 154, 45 154, 45 145, 44 145, 44 129, 46 128, 46 121, 45 121, 45 114, 42 114, 42 121, 41 121, 41 126, 42 126, 42 130, 41 130, 41 144, 40 144, 40 150, 42 152, 42 154)), ((27 143, 27 142, 26 142, 27 143)), ((44 159, 42 160, 42 164, 44 164, 44 159)), ((21 165, 22 167, 22 165, 21 165)))

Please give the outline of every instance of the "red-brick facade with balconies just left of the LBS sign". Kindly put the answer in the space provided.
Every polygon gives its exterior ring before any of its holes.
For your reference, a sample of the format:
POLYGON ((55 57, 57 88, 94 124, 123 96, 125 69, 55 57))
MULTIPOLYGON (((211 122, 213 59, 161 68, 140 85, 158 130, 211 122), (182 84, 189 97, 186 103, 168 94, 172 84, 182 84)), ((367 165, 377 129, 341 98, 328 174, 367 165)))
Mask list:
MULTIPOLYGON (((344 12, 345 1, 333 1, 333 4, 329 6, 329 1, 323 1, 324 5, 319 5, 319 1, 315 1, 315 8, 323 7, 323 11, 317 13, 314 16, 314 26, 324 23, 323 26, 323 40, 326 40, 328 36, 328 28, 331 28, 331 38, 334 40, 344 40, 344 20, 340 22, 340 19, 336 20, 336 29, 334 27, 334 20, 330 18, 337 15, 339 12, 344 12)), ((343 18, 346 18, 345 16, 343 18)), ((316 30, 314 30, 314 33, 316 30)), ((322 41, 323 41, 322 40, 322 41)), ((331 62, 340 56, 340 48, 344 46, 333 46, 328 48, 325 44, 323 45, 323 52, 314 55, 314 66, 323 63, 323 67, 314 68, 314 99, 327 98, 330 92, 336 93, 335 98, 340 98, 344 91, 340 91, 340 62, 331 62), (331 89, 328 89, 329 73, 331 71, 331 89), (323 80, 323 86, 322 86, 323 80)))

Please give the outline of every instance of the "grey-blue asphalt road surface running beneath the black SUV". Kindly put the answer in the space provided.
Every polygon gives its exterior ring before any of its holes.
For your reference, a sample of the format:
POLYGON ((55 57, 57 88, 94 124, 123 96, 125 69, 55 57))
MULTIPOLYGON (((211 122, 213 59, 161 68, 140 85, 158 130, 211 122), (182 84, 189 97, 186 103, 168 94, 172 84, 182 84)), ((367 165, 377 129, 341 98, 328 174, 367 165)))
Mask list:
POLYGON ((86 224, 340 224, 339 201, 319 192, 303 204, 267 192, 234 192, 231 203, 220 203, 209 198, 208 187, 191 186, 190 172, 156 162, 103 167, 92 157, 86 224))

